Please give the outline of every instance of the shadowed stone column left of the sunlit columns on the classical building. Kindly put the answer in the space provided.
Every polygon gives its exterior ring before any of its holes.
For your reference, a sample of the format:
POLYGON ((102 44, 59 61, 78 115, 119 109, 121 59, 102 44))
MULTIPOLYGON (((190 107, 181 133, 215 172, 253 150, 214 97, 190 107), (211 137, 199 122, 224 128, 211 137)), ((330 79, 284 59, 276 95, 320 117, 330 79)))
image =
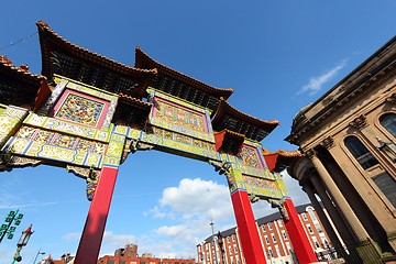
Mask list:
POLYGON ((336 246, 336 248, 342 246, 342 243, 339 240, 333 227, 331 226, 331 223, 330 223, 329 219, 327 218, 322 207, 320 206, 319 201, 317 200, 312 187, 306 182, 306 183, 302 184, 302 188, 306 191, 306 194, 308 195, 309 200, 311 201, 315 210, 317 211, 317 213, 318 213, 318 216, 320 218, 320 221, 323 224, 324 230, 326 230, 327 234, 329 235, 330 241, 333 244, 333 246, 336 246))

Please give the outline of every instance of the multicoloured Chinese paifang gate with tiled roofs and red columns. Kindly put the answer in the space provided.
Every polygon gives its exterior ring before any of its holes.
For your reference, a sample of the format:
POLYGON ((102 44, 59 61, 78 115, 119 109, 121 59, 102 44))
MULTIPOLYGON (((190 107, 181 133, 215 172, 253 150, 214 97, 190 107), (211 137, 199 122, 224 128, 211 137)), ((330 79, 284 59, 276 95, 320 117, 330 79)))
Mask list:
POLYGON ((97 262, 120 165, 157 150, 206 162, 228 179, 248 264, 266 263, 251 202, 277 207, 299 263, 317 262, 279 172, 298 152, 260 143, 277 125, 234 109, 219 89, 135 50, 130 67, 72 44, 37 22, 42 75, 0 57, 0 169, 46 164, 87 182, 90 200, 75 263, 97 262))

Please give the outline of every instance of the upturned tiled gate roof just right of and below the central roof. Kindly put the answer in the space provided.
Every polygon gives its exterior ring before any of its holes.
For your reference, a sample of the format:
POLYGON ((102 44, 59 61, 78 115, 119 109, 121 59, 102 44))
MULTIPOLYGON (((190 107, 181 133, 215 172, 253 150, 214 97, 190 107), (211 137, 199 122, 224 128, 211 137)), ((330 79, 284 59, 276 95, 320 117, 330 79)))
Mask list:
POLYGON ((268 135, 278 124, 279 121, 277 120, 263 121, 245 114, 233 108, 222 98, 212 118, 213 130, 221 131, 228 129, 258 142, 268 135))

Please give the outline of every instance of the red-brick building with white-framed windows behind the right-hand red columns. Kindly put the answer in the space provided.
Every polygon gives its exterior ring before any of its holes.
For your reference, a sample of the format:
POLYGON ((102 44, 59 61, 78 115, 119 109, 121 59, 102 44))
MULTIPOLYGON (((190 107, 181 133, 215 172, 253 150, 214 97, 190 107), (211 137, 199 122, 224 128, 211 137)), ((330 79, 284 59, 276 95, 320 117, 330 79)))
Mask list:
MULTIPOLYGON (((296 207, 309 242, 317 254, 324 252, 331 242, 310 205, 296 207)), ((267 263, 292 264, 294 262, 293 245, 279 212, 256 220, 262 245, 267 263)), ((199 264, 242 264, 245 263, 239 241, 238 229, 232 228, 207 238, 197 245, 199 264), (220 240, 219 240, 220 238, 220 240), (219 245, 222 245, 221 254, 219 245)))

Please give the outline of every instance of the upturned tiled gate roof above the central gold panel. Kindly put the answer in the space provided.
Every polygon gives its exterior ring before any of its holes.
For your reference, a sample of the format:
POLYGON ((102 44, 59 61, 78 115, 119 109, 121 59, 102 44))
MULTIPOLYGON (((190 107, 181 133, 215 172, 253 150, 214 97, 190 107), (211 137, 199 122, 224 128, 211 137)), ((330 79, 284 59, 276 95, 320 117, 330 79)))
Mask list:
POLYGON ((154 88, 198 105, 209 103, 209 106, 205 107, 210 109, 216 107, 220 98, 228 99, 233 92, 232 88, 216 88, 176 72, 154 61, 140 47, 135 48, 135 67, 145 69, 157 68, 158 75, 152 82, 154 88))

